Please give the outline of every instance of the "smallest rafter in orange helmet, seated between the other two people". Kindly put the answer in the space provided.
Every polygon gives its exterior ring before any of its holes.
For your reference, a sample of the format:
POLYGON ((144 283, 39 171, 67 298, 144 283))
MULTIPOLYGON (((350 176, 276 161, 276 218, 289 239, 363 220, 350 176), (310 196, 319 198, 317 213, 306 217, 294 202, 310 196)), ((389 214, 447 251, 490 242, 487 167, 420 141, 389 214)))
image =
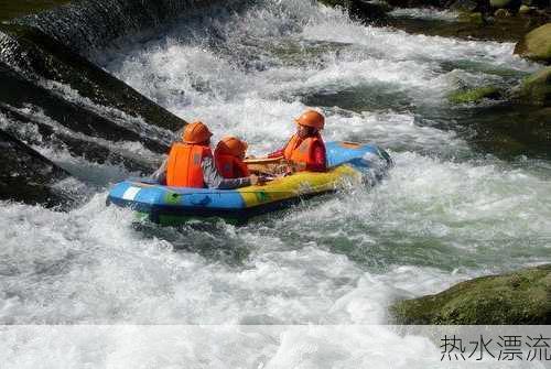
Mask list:
POLYGON ((235 137, 226 137, 218 142, 214 151, 216 169, 225 178, 239 178, 250 175, 244 163, 248 144, 235 137))

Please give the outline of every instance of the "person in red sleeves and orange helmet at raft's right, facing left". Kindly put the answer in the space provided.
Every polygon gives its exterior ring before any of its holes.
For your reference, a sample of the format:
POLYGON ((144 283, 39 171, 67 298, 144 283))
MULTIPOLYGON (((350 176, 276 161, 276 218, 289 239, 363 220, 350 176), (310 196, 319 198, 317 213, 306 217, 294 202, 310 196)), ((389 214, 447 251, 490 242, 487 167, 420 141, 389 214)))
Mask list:
POLYGON ((268 158, 283 156, 289 162, 291 172, 327 171, 325 143, 320 133, 325 127, 325 117, 315 110, 306 110, 294 121, 296 133, 284 148, 269 154, 268 158))

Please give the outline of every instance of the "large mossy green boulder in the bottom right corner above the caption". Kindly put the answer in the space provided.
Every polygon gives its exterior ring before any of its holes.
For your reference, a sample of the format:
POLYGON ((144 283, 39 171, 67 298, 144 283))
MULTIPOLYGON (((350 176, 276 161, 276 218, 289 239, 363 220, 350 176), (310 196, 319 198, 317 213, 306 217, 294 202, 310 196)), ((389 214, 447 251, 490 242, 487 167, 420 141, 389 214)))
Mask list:
POLYGON ((398 324, 551 324, 551 264, 462 282, 390 312, 398 324))

